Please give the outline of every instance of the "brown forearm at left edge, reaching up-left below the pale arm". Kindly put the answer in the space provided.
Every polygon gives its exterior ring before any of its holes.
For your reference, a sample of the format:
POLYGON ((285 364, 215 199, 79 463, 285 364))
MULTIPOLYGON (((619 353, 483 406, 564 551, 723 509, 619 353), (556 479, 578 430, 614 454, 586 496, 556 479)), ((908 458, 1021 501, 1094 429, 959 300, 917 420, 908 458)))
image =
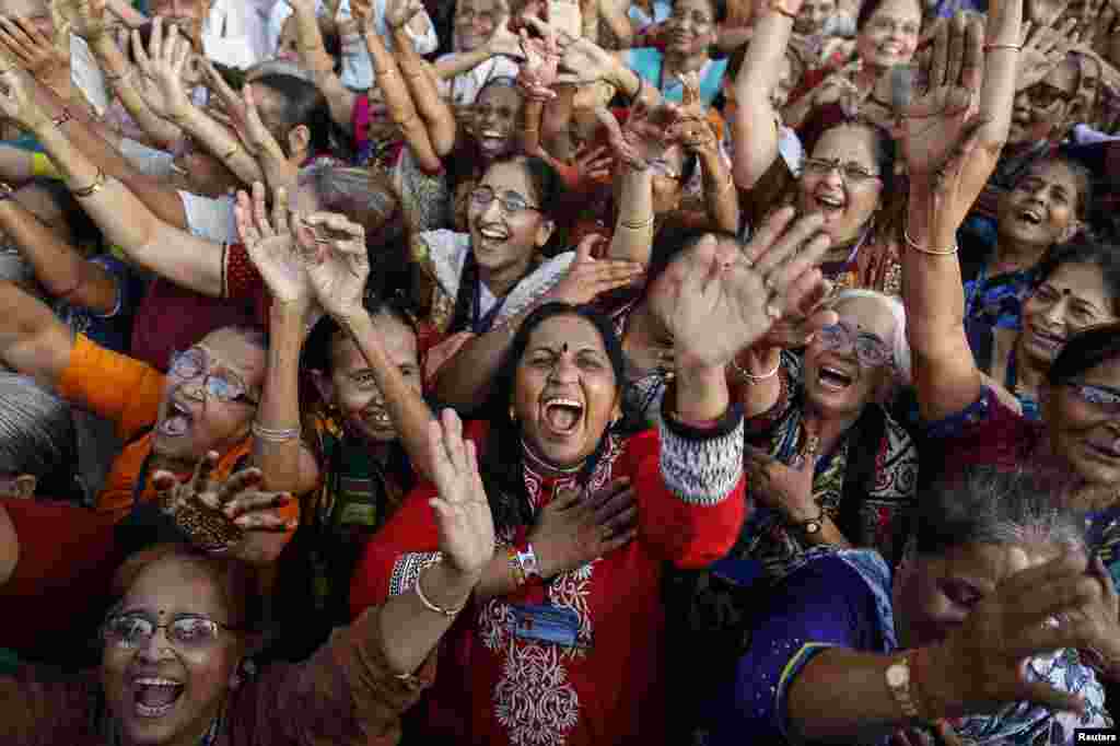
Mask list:
POLYGON ((0 230, 20 249, 53 298, 105 315, 116 305, 116 283, 12 199, 0 201, 0 230))

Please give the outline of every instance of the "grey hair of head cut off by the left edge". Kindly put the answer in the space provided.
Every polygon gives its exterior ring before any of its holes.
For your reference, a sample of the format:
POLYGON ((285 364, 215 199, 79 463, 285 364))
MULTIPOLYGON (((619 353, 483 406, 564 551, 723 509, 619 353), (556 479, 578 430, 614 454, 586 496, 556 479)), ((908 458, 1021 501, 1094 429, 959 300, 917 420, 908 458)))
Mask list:
POLYGON ((69 404, 32 379, 0 371, 0 472, 50 474, 73 451, 69 404))

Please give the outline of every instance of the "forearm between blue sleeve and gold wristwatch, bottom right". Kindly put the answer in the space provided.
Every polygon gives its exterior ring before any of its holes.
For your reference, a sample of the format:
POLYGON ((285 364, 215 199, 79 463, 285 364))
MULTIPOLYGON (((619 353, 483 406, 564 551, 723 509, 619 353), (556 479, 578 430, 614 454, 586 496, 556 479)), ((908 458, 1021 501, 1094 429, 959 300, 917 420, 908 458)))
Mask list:
POLYGON ((843 647, 818 653, 790 684, 791 730, 809 742, 870 740, 913 725, 887 687, 886 671, 894 661, 843 647))

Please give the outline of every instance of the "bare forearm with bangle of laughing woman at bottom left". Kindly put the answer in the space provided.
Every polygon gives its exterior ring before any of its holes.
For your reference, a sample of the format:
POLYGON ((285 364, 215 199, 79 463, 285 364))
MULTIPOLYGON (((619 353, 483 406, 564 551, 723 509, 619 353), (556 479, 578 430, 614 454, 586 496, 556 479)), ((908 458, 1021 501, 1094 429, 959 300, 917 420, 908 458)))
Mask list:
MULTIPOLYGON (((417 582, 436 606, 458 608, 466 605, 478 576, 439 562, 424 570, 417 582)), ((398 673, 416 671, 455 622, 454 616, 426 608, 414 591, 390 598, 379 618, 385 659, 398 673)))

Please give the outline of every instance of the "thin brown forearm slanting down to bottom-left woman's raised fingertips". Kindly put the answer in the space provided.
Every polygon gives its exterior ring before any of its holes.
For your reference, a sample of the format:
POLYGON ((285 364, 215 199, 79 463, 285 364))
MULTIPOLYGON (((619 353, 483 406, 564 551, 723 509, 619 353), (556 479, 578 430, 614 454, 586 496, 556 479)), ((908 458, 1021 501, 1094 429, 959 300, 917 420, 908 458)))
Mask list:
POLYGON ((364 309, 351 317, 339 318, 338 324, 362 351, 366 363, 373 370, 377 388, 384 397, 385 409, 389 410, 389 417, 413 467, 420 475, 430 479, 435 458, 431 453, 431 438, 428 437, 428 426, 432 420, 431 410, 423 398, 405 383, 400 370, 385 354, 377 330, 373 326, 373 319, 364 309))

